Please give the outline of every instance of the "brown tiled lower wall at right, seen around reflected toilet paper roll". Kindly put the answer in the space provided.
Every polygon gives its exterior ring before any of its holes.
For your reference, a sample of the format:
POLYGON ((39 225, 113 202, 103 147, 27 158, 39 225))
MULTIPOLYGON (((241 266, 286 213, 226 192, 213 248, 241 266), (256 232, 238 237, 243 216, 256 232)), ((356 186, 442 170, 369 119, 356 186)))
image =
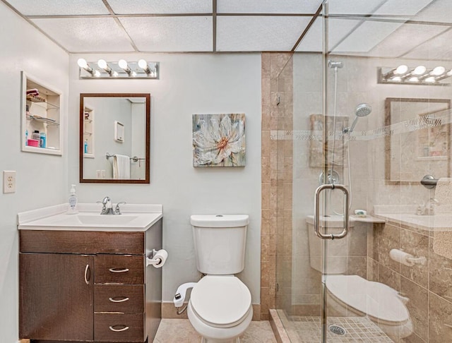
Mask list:
POLYGON ((367 278, 383 282, 410 299, 408 311, 414 333, 400 342, 452 342, 452 260, 433 251, 433 231, 388 222, 369 232, 367 278), (389 258, 401 249, 427 263, 412 267, 389 258))

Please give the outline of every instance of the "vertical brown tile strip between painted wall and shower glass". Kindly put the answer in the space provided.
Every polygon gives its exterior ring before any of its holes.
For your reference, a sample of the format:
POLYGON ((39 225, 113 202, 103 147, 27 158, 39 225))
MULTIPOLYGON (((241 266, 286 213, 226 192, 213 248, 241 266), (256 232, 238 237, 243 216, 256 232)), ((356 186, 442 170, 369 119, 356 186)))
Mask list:
POLYGON ((272 131, 292 130, 292 75, 292 54, 262 54, 261 320, 277 302, 290 302, 292 140, 276 140, 272 131))

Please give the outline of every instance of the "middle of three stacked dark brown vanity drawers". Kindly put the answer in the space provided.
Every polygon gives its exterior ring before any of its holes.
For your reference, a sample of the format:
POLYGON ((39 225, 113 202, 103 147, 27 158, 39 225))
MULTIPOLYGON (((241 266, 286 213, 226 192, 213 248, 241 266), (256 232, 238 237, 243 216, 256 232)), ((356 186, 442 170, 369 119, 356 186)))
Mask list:
POLYGON ((96 284, 95 312, 144 312, 144 286, 141 284, 96 284))

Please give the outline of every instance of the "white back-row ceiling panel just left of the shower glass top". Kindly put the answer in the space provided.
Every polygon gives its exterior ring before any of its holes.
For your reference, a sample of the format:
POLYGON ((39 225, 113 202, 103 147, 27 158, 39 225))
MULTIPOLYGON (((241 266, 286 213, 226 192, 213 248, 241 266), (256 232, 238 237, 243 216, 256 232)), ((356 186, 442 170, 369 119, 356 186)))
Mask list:
POLYGON ((311 17, 220 16, 219 52, 290 51, 311 17))

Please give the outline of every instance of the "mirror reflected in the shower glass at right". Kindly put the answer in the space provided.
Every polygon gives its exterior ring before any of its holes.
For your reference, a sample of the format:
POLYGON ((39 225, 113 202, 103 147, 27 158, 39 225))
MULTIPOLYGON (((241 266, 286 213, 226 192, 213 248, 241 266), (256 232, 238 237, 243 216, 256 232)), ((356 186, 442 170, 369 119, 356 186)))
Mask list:
POLYGON ((450 176, 450 108, 448 99, 386 99, 386 184, 450 176))

